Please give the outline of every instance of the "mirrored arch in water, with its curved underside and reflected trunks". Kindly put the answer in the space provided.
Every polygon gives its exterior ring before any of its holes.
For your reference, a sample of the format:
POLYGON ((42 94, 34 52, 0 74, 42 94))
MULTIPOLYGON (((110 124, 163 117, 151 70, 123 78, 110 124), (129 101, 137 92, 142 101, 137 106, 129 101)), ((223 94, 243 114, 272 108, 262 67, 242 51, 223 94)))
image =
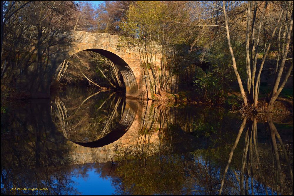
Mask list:
POLYGON ((138 103, 109 91, 69 88, 51 100, 51 115, 64 136, 85 147, 113 143, 132 125, 138 103))

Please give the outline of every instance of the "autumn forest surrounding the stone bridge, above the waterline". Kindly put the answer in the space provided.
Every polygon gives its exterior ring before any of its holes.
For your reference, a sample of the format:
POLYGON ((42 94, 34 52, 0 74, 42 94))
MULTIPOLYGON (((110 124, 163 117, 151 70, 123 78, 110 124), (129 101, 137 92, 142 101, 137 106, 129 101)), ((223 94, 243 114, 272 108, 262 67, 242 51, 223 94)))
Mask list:
MULTIPOLYGON (((38 91, 52 48, 69 47, 73 31, 119 35, 119 47, 137 48, 151 99, 271 112, 282 95, 293 106, 293 1, 1 1, 1 16, 1 112, 38 91)), ((125 85, 114 63, 91 51, 51 78, 51 88, 82 83, 125 85)))

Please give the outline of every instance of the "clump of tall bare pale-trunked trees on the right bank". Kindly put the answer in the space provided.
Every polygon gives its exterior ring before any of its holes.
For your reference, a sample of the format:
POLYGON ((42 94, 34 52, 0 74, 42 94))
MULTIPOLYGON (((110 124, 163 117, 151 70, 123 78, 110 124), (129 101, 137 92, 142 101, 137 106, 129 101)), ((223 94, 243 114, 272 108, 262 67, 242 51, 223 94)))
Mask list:
MULTIPOLYGON (((270 53, 270 51, 275 51, 275 48, 271 49, 271 46, 275 44, 278 45, 275 80, 272 91, 270 93, 270 97, 268 99, 268 111, 271 112, 274 101, 278 98, 293 69, 292 62, 292 65, 288 67, 287 73, 284 74, 285 76, 283 76, 283 81, 281 81, 286 60, 292 59, 293 61, 293 58, 288 58, 290 42, 291 40, 293 40, 293 36, 291 36, 293 31, 293 1, 285 1, 281 3, 279 2, 277 4, 273 2, 269 3, 268 1, 248 1, 247 3, 242 3, 240 1, 223 1, 222 6, 219 2, 202 2, 202 4, 213 6, 208 7, 208 11, 204 10, 202 13, 217 11, 216 16, 211 17, 213 19, 216 18, 215 21, 218 22, 216 22, 216 24, 201 24, 203 22, 200 21, 200 24, 197 24, 196 26, 214 26, 218 28, 225 28, 228 48, 230 50, 233 62, 232 66, 245 105, 250 104, 254 108, 257 108, 260 89, 260 77, 263 66, 265 64, 265 61, 268 59, 268 54, 270 53), (229 22, 232 21, 232 19, 228 19, 228 14, 232 15, 235 12, 238 12, 239 8, 242 6, 244 7, 245 5, 247 6, 247 28, 245 34, 247 95, 243 87, 242 79, 238 72, 238 65, 236 63, 234 50, 231 45, 230 31, 232 30, 230 28, 232 27, 232 24, 230 26, 229 22), (275 13, 269 13, 269 11, 272 11, 274 9, 278 11, 275 13), (223 13, 223 18, 218 13, 223 13), (290 14, 292 15, 291 19, 290 14), (223 19, 223 21, 220 21, 220 19, 223 19), (266 23, 270 23, 270 25, 266 26, 266 23), (271 26, 273 26, 273 28, 271 26), (277 39, 275 33, 278 30, 279 26, 280 28, 277 39), (261 32, 267 31, 267 28, 272 28, 269 30, 270 35, 263 35, 261 32), (282 29, 285 29, 284 32, 281 31, 282 29), (280 38, 281 32, 283 32, 282 39, 280 38), (262 44, 263 47, 260 47, 260 45, 262 44), (258 58, 261 52, 263 52, 263 56, 262 61, 259 64, 258 58)), ((238 19, 244 18, 242 17, 242 12, 240 12, 240 14, 241 15, 238 16, 238 19)), ((233 21, 235 22, 238 19, 234 19, 233 21)), ((204 21, 208 22, 208 19, 204 21)))

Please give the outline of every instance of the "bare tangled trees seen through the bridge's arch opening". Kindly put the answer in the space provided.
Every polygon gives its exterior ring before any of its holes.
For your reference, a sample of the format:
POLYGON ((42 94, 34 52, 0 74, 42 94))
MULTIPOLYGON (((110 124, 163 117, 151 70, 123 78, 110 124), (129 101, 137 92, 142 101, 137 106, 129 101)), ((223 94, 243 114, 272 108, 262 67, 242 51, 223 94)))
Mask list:
POLYGON ((81 51, 66 59, 55 74, 55 82, 88 81, 102 89, 124 90, 118 67, 108 58, 92 51, 81 51), (86 79, 86 80, 85 80, 86 79))

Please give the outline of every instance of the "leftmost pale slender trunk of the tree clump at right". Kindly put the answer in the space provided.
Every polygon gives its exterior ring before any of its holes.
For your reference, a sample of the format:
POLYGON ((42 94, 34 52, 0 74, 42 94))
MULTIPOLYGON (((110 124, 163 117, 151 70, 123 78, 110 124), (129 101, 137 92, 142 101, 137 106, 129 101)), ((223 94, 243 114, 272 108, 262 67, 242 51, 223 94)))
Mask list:
POLYGON ((226 32, 227 32, 228 46, 229 46, 230 53, 231 53, 231 56, 232 56, 234 72, 235 72, 235 75, 237 77, 237 81, 238 81, 238 84, 239 84, 239 88, 240 88, 240 92, 241 92, 244 104, 247 105, 247 97, 246 97, 246 94, 245 94, 245 91, 244 91, 244 88, 243 88, 242 80, 241 80, 239 72, 237 70, 236 60, 235 60, 235 56, 234 56, 234 53, 233 53, 233 48, 231 46, 230 32, 229 32, 229 27, 228 27, 228 20, 227 20, 227 16, 226 16, 226 13, 225 13, 225 1, 223 1, 223 12, 224 12, 224 16, 225 16, 225 29, 226 29, 226 32))

